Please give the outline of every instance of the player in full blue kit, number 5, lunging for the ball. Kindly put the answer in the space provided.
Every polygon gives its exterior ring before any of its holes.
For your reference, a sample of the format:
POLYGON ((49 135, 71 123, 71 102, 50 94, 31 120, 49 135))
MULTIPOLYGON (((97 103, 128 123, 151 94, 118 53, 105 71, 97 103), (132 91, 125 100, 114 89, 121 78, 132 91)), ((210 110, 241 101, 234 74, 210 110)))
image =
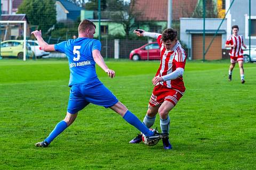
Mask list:
POLYGON ((100 54, 100 41, 93 39, 95 28, 96 26, 92 21, 83 20, 78 26, 78 38, 69 39, 55 45, 49 45, 44 41, 41 30, 31 32, 44 51, 65 53, 68 57, 70 70, 70 95, 66 117, 55 126, 44 141, 36 143, 36 147, 49 146, 54 138, 75 121, 78 112, 90 103, 113 109, 126 122, 145 133, 149 141, 167 135, 150 131, 100 82, 95 71, 95 63, 110 78, 115 77, 115 71, 110 70, 104 62, 100 54))

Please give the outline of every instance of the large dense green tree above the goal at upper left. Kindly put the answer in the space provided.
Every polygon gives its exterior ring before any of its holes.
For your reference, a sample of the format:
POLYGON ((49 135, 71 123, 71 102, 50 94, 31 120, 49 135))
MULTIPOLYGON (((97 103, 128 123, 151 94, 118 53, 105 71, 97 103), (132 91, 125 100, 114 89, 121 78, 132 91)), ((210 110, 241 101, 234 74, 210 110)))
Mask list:
POLYGON ((17 13, 26 14, 28 22, 38 25, 43 33, 57 22, 54 0, 23 0, 17 13))

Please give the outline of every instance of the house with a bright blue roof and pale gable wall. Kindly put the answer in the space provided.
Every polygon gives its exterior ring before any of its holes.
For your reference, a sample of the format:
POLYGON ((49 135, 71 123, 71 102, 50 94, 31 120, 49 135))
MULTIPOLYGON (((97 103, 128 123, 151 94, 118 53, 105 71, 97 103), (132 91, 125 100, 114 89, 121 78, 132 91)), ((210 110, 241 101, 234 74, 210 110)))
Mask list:
POLYGON ((67 0, 57 0, 55 2, 56 11, 57 11, 57 22, 61 21, 77 21, 81 16, 82 7, 77 6, 76 4, 67 1, 67 0))

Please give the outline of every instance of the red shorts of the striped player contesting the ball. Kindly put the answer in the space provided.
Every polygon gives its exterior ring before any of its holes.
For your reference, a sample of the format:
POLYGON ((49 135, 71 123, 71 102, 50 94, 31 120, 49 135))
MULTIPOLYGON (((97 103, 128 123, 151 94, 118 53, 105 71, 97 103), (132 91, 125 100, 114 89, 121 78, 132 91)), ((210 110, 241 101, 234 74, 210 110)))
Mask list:
POLYGON ((158 106, 167 100, 175 106, 181 97, 182 94, 179 91, 164 88, 162 85, 158 85, 153 90, 153 93, 149 99, 149 105, 158 106))

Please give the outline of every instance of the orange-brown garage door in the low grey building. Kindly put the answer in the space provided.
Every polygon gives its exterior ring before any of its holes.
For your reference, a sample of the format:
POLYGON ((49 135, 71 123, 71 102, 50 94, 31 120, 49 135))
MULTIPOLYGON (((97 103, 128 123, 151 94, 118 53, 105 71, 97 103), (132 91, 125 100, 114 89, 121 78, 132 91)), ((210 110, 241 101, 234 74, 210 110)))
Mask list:
MULTIPOLYGON (((205 50, 208 48, 213 35, 205 35, 205 50)), ((203 35, 193 34, 192 35, 192 58, 193 60, 203 60, 203 35)), ((217 35, 205 55, 205 60, 219 60, 222 58, 222 48, 221 48, 221 35, 217 35)))

